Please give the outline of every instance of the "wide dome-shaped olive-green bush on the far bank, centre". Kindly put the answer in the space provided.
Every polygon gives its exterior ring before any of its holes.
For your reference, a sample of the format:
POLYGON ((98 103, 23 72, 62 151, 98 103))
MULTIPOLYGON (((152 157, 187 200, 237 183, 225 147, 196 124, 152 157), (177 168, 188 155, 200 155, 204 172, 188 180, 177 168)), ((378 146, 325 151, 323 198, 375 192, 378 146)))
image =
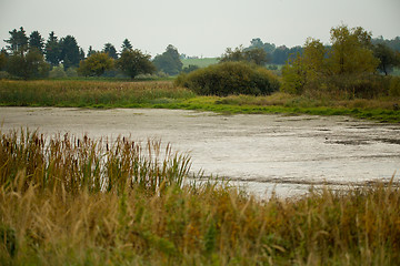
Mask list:
POLYGON ((201 95, 266 95, 279 90, 280 83, 269 70, 244 62, 226 62, 180 74, 176 84, 201 95))

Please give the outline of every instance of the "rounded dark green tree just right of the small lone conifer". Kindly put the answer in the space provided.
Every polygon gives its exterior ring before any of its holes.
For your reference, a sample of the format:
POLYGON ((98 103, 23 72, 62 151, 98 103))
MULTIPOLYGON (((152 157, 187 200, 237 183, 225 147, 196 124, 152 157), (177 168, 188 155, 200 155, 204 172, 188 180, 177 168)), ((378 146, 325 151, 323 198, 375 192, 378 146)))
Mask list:
POLYGON ((151 74, 156 68, 151 63, 150 58, 149 54, 143 54, 138 49, 126 49, 117 61, 117 68, 131 79, 134 79, 138 74, 151 74))

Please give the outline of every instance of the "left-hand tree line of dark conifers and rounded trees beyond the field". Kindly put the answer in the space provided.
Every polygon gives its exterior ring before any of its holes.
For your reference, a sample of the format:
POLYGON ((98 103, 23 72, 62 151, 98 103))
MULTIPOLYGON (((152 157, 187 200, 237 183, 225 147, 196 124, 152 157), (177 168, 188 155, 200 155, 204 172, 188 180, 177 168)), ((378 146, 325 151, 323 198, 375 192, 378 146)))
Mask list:
POLYGON ((89 47, 86 54, 73 35, 58 38, 52 31, 47 40, 38 31, 28 37, 23 27, 9 31, 10 38, 4 40, 6 48, 0 52, 0 71, 23 79, 47 78, 49 73, 64 75, 100 76, 118 74, 134 79, 139 74, 174 75, 182 70, 178 49, 168 45, 162 54, 151 60, 131 42, 124 39, 120 52, 111 43, 106 43, 101 51, 89 47), (51 71, 51 72, 50 72, 51 71))

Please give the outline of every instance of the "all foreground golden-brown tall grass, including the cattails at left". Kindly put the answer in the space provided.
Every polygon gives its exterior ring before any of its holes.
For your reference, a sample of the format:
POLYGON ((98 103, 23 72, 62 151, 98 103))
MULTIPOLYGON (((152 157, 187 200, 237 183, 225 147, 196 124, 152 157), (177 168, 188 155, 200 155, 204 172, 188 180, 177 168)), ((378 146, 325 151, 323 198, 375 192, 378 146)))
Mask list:
POLYGON ((168 147, 157 161, 154 150, 1 133, 0 264, 400 263, 394 181, 259 201, 229 184, 184 183, 189 158, 168 147))

